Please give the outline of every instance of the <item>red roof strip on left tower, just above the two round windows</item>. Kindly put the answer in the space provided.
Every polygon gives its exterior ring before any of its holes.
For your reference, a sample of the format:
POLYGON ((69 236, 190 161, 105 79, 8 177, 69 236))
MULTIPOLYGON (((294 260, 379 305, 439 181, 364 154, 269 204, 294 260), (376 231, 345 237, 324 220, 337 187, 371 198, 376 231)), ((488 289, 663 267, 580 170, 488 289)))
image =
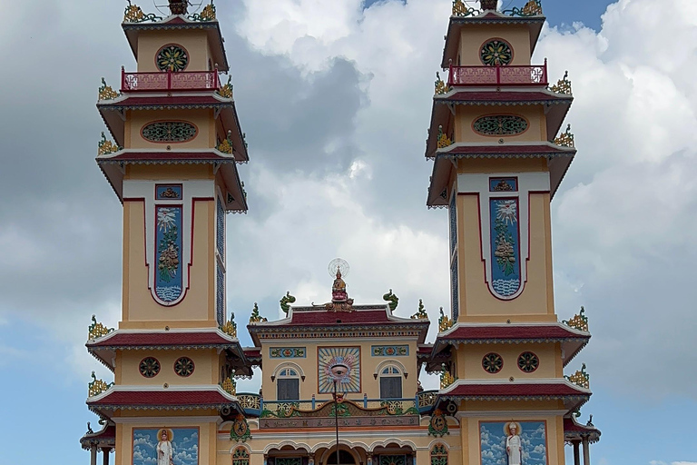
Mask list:
POLYGON ((101 347, 184 347, 184 346, 231 346, 237 341, 229 341, 218 332, 114 332, 113 337, 98 342, 87 342, 88 348, 101 347))

